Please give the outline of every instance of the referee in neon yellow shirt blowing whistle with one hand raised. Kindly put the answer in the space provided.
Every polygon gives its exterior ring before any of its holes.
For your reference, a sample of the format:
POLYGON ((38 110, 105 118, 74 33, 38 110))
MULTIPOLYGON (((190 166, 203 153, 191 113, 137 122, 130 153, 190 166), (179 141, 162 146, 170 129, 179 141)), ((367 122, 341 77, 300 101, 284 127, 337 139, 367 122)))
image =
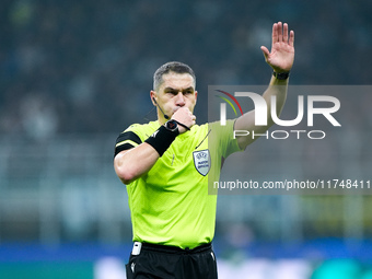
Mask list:
MULTIPOLYGON (((274 95, 277 111, 283 107, 293 42, 293 31, 278 22, 272 25, 271 50, 261 46, 274 70, 263 95, 268 112, 274 95)), ((114 167, 127 185, 133 233, 128 279, 218 278, 211 246, 217 195, 208 195, 208 179, 219 181, 224 159, 254 141, 249 137, 233 139, 233 129, 257 135, 274 124, 269 114, 268 126, 255 127, 252 111, 225 126, 199 126, 193 114, 198 96, 195 89, 196 77, 187 65, 161 66, 150 92, 158 120, 131 125, 116 140, 114 167)))

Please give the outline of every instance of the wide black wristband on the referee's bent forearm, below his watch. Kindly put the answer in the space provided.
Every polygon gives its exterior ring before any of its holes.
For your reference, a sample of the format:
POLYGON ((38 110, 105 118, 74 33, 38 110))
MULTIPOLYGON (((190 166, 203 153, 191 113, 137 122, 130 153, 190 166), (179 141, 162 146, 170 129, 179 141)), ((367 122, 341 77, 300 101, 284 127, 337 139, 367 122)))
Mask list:
POLYGON ((178 135, 178 130, 171 131, 164 126, 160 126, 160 128, 155 130, 154 133, 152 133, 144 142, 153 147, 158 151, 159 155, 162 156, 178 135))

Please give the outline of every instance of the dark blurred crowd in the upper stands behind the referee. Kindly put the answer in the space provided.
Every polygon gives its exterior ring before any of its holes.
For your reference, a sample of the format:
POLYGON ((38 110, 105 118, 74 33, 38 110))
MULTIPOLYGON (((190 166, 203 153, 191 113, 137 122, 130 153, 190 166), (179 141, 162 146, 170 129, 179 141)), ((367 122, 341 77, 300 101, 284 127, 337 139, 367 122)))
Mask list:
MULTIPOLYGON (((2 1, 0 133, 42 140, 118 132, 127 124, 154 118, 154 111, 149 114, 151 74, 168 60, 195 69, 199 92, 209 84, 267 84, 270 70, 259 46, 269 44, 277 20, 289 22, 298 34, 291 84, 368 84, 368 5, 321 0, 2 1)), ((201 102, 206 95, 199 94, 201 102)), ((356 107, 367 113, 364 102, 356 107)), ((206 121, 206 109, 198 109, 198 119, 206 121)))

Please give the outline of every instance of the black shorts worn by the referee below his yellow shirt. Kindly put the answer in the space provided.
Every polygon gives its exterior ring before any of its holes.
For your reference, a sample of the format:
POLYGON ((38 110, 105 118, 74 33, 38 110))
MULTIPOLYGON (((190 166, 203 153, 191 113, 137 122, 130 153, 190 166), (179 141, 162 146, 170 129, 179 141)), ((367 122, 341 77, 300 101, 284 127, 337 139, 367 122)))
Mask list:
POLYGON ((211 244, 194 249, 142 243, 139 255, 130 255, 127 279, 217 279, 211 244))

